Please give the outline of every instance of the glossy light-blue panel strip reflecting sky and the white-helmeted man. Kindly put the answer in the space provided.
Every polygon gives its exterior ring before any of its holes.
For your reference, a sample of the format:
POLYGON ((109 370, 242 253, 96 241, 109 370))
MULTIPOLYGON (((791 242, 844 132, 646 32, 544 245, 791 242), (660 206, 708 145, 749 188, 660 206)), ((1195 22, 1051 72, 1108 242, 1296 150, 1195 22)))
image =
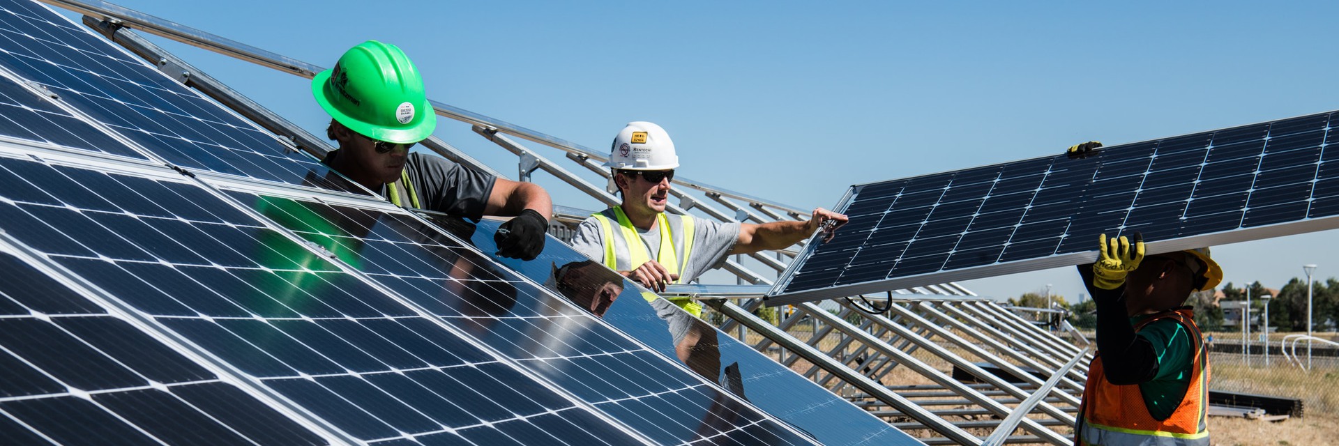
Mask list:
MULTIPOLYGON (((485 220, 470 240, 479 250, 493 252, 497 226, 485 220)), ((494 258, 825 445, 919 445, 565 244, 545 244, 533 261, 494 258)))

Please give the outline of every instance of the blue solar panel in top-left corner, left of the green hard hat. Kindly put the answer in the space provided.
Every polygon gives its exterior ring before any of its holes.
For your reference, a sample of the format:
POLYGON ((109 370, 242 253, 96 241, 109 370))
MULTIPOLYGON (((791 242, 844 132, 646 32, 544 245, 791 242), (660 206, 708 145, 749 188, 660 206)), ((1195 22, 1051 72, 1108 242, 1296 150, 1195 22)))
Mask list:
MULTIPOLYGON (((56 96, 50 100, 78 110, 170 165, 287 183, 324 178, 328 171, 44 5, 0 0, 0 67, 42 86, 56 96)), ((102 145, 106 137, 94 138, 99 138, 95 150, 143 158, 125 145, 102 145)))

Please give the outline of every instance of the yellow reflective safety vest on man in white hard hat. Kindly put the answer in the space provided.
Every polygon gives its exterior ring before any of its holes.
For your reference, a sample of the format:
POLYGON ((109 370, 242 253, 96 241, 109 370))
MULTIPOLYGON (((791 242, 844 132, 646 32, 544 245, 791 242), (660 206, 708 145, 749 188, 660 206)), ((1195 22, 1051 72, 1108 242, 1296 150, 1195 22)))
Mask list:
MULTIPOLYGON (((604 265, 613 271, 636 269, 636 267, 641 267, 641 264, 651 260, 651 252, 647 249, 647 244, 641 236, 637 234, 636 226, 623 213, 623 209, 617 206, 611 209, 613 209, 615 217, 619 218, 619 230, 613 229, 613 222, 604 213, 592 214, 600 222, 600 228, 604 232, 604 265), (621 263, 619 261, 620 252, 628 253, 621 263)), ((656 216, 656 225, 660 230, 660 249, 656 253, 656 263, 664 265, 665 271, 671 275, 679 275, 676 283, 683 283, 684 277, 682 272, 688 268, 688 258, 692 256, 694 220, 691 216, 678 217, 671 220, 664 213, 656 216), (678 230, 672 222, 679 224, 678 230), (675 237, 675 233, 680 233, 682 237, 675 237)), ((653 293, 643 293, 643 297, 647 301, 660 299, 653 293)), ((694 316, 702 317, 702 304, 692 299, 670 299, 670 301, 694 316)))

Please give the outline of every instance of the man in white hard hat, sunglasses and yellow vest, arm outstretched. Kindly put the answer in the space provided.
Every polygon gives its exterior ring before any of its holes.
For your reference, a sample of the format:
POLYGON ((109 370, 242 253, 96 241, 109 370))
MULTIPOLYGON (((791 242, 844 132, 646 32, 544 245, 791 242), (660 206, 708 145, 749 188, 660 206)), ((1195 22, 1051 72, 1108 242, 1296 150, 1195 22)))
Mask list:
MULTIPOLYGON (((605 166, 613 170, 623 202, 582 221, 572 246, 657 292, 698 279, 724 264, 730 254, 782 249, 807 238, 825 222, 829 230, 846 224, 846 216, 822 208, 814 209, 807 221, 761 225, 667 216, 679 157, 670 134, 649 122, 629 122, 619 131, 605 166)), ((695 316, 702 313, 702 305, 691 300, 675 304, 695 316)))

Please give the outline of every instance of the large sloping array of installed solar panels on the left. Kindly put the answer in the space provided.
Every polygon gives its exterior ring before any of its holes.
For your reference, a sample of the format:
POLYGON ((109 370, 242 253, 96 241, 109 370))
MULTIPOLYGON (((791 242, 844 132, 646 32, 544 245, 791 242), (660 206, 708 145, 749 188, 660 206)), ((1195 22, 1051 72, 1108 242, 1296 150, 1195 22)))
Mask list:
POLYGON ((494 222, 268 186, 332 175, 44 7, 0 36, 5 443, 913 442, 746 346, 679 363, 631 283, 573 305, 553 238, 526 279, 494 222))

